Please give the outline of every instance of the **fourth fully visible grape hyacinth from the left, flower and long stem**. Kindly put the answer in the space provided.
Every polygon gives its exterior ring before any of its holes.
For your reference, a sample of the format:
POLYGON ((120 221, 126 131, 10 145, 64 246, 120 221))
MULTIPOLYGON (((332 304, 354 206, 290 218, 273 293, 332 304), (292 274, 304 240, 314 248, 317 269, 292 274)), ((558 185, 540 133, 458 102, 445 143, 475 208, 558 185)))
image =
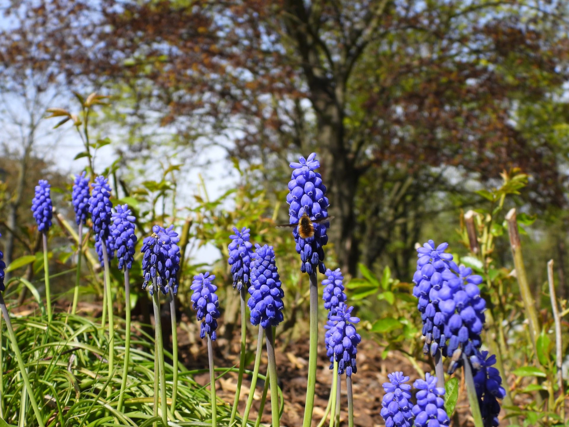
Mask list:
POLYGON ((110 237, 117 251, 118 268, 125 274, 125 364, 122 371, 121 391, 119 392, 117 410, 121 410, 125 399, 126 380, 130 363, 130 280, 129 270, 133 266, 137 236, 134 234, 135 217, 128 205, 117 205, 112 215, 110 237))

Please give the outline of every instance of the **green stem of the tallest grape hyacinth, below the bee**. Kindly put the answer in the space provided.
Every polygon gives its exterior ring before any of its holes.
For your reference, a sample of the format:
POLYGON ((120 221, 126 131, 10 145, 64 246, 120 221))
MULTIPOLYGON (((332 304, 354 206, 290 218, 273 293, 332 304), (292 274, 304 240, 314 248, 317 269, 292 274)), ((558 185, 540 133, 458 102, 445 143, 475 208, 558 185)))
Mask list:
POLYGON ((312 424, 314 410, 314 391, 316 388, 316 363, 318 362, 318 279, 316 272, 310 275, 310 351, 308 352, 308 381, 306 385, 306 404, 304 404, 303 427, 312 424))

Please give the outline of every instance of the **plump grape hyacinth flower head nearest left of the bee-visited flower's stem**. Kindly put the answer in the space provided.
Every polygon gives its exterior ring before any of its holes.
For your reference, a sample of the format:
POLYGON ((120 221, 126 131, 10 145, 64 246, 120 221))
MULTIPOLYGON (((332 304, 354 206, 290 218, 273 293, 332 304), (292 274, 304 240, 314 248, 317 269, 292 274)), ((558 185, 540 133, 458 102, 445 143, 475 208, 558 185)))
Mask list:
POLYGON ((269 245, 255 245, 251 262, 251 285, 247 305, 251 310, 251 325, 261 325, 263 329, 278 326, 283 321, 284 291, 281 288, 275 251, 269 245))

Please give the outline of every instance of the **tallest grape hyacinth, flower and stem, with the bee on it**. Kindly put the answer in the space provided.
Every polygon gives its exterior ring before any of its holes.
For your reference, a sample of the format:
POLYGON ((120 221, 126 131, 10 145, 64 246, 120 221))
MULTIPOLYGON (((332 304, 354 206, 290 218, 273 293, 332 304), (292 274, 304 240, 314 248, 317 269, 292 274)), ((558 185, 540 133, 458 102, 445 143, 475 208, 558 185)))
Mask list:
POLYGON ((328 198, 322 176, 315 172, 320 167, 316 153, 298 162, 291 162, 293 169, 288 182, 286 201, 289 224, 298 224, 292 229, 296 252, 300 254, 300 271, 310 276, 310 351, 308 354, 308 380, 304 404, 303 427, 310 427, 314 409, 316 387, 316 364, 318 359, 318 279, 316 268, 325 273, 324 245, 328 243, 327 228, 328 198))

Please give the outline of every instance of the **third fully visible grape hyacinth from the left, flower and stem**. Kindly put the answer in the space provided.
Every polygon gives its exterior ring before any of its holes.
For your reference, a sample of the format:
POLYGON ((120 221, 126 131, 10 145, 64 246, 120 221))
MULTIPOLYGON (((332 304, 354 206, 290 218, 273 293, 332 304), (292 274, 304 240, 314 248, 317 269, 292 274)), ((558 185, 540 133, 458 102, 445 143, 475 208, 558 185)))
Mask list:
MULTIPOLYGON (((95 244, 100 245, 102 265, 105 274, 106 310, 109 312, 109 378, 113 375, 114 366, 114 318, 113 295, 110 289, 110 252, 112 238, 110 237, 110 220, 113 203, 110 201, 110 186, 104 176, 97 176, 92 184, 93 190, 89 198, 89 213, 93 223, 95 244)), ((105 324, 105 301, 103 302, 102 325, 105 324)), ((110 392, 110 389, 109 389, 110 392)))

